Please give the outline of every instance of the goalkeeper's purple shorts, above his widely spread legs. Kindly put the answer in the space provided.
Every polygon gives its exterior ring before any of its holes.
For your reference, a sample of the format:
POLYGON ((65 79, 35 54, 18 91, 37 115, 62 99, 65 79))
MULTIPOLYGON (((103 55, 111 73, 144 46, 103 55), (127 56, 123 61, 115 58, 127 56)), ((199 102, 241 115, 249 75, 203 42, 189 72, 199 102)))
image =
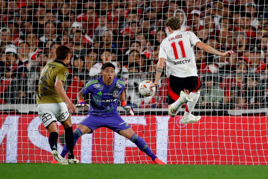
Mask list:
POLYGON ((131 127, 121 118, 119 114, 106 117, 88 115, 79 124, 89 127, 91 129, 90 133, 100 127, 107 127, 117 133, 131 127))

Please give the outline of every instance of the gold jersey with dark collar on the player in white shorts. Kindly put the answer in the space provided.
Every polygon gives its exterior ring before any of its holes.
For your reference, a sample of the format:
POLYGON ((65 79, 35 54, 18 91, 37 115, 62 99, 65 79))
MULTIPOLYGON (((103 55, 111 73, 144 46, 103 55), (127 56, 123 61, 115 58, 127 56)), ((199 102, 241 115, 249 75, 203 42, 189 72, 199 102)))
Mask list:
POLYGON ((63 99, 55 89, 55 82, 60 79, 64 85, 68 75, 69 71, 64 62, 55 59, 48 63, 41 72, 36 103, 63 103, 63 99))

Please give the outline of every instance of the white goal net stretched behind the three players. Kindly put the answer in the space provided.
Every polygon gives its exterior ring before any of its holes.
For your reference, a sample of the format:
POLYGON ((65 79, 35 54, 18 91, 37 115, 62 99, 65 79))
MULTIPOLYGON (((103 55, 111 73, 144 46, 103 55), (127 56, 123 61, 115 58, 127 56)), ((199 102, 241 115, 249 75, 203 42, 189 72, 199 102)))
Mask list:
MULTIPOLYGON (((42 69, 55 59, 55 47, 70 48, 66 94, 74 104, 84 85, 101 76, 103 63, 115 65, 126 83, 121 117, 168 164, 267 164, 268 7, 258 0, 0 0, 0 162, 53 160, 48 132, 37 115, 36 93, 42 69), (194 47, 202 82, 194 124, 168 116, 166 71, 149 97, 143 80, 154 81, 164 22, 176 16, 182 31, 220 52, 194 47)), ((178 86, 180 84, 177 84, 178 86)), ((85 102, 90 103, 90 96, 85 102)), ((89 108, 72 115, 73 129, 89 108)), ((59 128, 59 152, 64 141, 59 128)), ((152 163, 130 140, 99 128, 74 148, 81 163, 152 163)))

